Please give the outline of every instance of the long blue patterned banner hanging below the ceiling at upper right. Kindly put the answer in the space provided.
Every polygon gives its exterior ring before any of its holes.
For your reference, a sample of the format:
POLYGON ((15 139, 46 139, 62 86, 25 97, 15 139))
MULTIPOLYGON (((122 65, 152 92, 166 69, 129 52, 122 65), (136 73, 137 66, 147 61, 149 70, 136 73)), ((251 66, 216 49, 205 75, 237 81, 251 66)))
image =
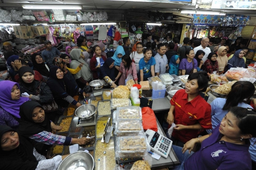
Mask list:
POLYGON ((230 26, 230 27, 245 27, 250 17, 246 15, 227 14, 226 16, 220 15, 207 15, 207 14, 194 14, 193 24, 195 26, 230 26))

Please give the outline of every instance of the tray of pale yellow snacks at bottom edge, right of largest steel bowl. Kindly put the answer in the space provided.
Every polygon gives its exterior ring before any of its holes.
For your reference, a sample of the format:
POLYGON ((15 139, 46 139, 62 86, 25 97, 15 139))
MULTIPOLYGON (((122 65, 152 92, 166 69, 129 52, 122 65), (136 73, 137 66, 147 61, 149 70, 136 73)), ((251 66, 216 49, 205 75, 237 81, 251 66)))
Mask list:
POLYGON ((94 150, 95 170, 113 170, 116 167, 114 147, 113 138, 110 138, 109 143, 102 143, 101 140, 96 141, 94 150))

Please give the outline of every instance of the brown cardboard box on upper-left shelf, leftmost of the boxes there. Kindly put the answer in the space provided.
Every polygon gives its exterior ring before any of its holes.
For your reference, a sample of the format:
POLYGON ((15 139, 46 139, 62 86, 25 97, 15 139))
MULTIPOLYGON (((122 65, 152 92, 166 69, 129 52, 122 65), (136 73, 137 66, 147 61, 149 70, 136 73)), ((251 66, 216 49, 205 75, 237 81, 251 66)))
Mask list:
POLYGON ((30 26, 13 26, 13 29, 17 38, 35 38, 30 26))

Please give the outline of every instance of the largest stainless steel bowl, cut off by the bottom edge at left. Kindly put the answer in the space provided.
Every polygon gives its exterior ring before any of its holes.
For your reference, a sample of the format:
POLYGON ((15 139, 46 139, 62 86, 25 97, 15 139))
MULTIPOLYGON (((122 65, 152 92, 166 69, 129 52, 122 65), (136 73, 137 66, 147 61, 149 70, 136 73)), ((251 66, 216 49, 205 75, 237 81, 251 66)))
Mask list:
POLYGON ((78 151, 67 156, 58 170, 93 170, 94 160, 90 153, 78 151))

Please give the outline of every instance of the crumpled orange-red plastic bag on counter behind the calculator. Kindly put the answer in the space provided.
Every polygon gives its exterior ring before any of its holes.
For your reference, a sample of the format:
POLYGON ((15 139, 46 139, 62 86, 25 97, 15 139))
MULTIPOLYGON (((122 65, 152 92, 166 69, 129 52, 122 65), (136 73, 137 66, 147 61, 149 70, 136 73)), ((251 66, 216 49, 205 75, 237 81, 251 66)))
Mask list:
POLYGON ((157 132, 157 124, 156 124, 154 111, 149 107, 143 107, 141 109, 141 113, 142 113, 143 129, 144 130, 151 129, 157 132))

